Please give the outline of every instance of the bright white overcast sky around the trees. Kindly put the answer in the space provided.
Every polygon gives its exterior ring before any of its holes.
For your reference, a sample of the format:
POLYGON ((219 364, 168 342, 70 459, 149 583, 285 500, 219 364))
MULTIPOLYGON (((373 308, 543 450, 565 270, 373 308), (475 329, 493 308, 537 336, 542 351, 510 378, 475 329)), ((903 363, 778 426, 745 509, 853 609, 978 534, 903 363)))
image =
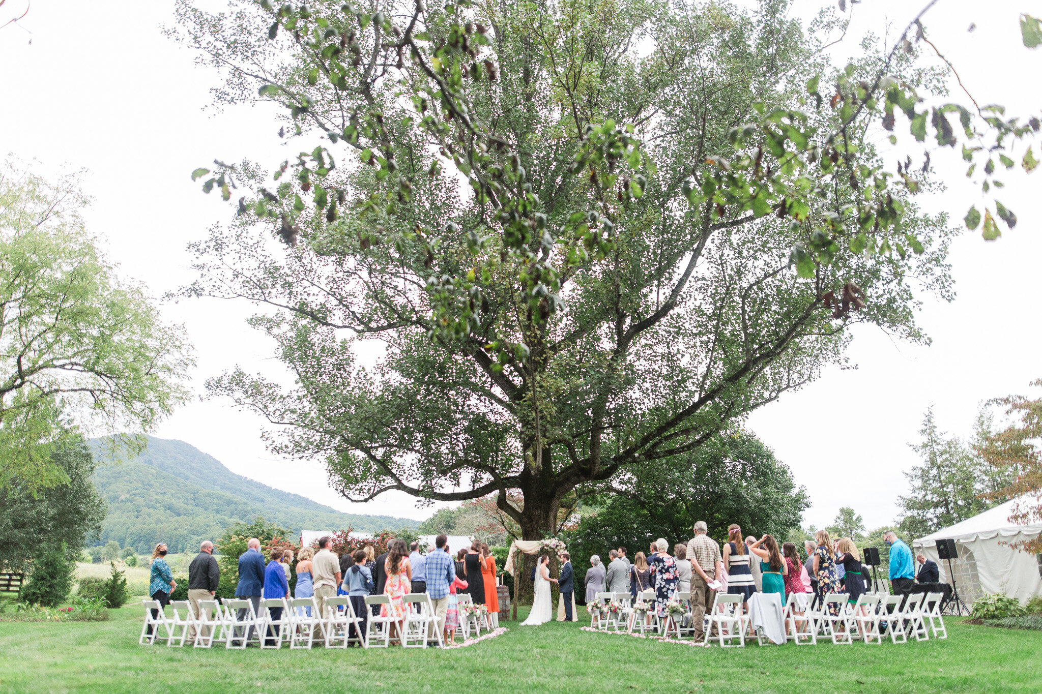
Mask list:
MULTIPOLYGON (((27 0, 0 7, 0 24, 24 11, 27 0)), ((844 44, 834 56, 857 53, 867 31, 899 33, 924 5, 864 0, 844 44), (898 28, 900 27, 900 28, 898 28)), ((977 101, 1001 103, 1010 113, 1040 106, 1042 51, 1020 41, 1018 12, 1038 14, 1037 2, 943 1, 925 18, 928 35, 956 63, 977 101), (969 32, 970 24, 976 25, 969 32)), ((809 17, 821 6, 797 0, 793 14, 809 17)), ((230 210, 203 196, 190 172, 215 157, 249 157, 271 165, 289 152, 276 136, 268 106, 216 113, 207 108, 217 76, 197 68, 193 55, 166 38, 173 3, 109 0, 34 0, 25 19, 0 29, 3 107, 0 150, 40 160, 40 171, 85 168, 84 188, 95 199, 85 217, 103 236, 125 276, 146 282, 154 295, 192 279, 185 245, 230 210), (31 42, 31 43, 30 43, 31 42)), ((962 94, 957 100, 966 101, 962 94)), ((289 145, 295 153, 299 144, 289 145)), ((1038 146, 1036 146, 1038 152, 1038 146)), ((935 155, 935 168, 951 164, 948 190, 921 203, 956 220, 979 190, 962 177, 958 156, 935 155)), ((790 393, 749 419, 793 470, 814 506, 804 523, 827 524, 840 506, 852 506, 869 528, 890 523, 895 495, 907 491, 902 470, 916 464, 908 443, 917 440, 922 414, 935 406, 940 425, 968 435, 978 405, 993 396, 1027 392, 1042 378, 1039 364, 1039 191, 1042 174, 1021 170, 1008 178, 1000 200, 1019 217, 1001 239, 964 234, 950 261, 958 298, 925 298, 919 322, 931 346, 896 341, 876 329, 855 332, 849 351, 857 368, 829 368, 816 383, 790 393)), ((977 207, 982 205, 978 202, 977 207)), ((242 364, 278 372, 272 345, 244 325, 244 304, 191 301, 166 304, 164 314, 183 323, 197 349, 195 386, 242 364)), ((260 441, 262 422, 226 402, 193 402, 156 432, 216 457, 231 470, 343 511, 424 518, 429 509, 403 494, 367 505, 340 499, 319 463, 287 463, 260 441)))

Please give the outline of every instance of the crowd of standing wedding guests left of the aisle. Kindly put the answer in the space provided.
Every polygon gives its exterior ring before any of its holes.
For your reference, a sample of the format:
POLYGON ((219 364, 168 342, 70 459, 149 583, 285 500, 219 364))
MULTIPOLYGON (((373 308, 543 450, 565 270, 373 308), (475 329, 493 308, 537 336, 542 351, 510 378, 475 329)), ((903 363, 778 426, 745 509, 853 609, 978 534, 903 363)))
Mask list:
MULTIPOLYGON (((363 620, 361 628, 364 631, 370 614, 366 608, 366 596, 387 595, 389 598, 383 605, 372 606, 373 615, 394 615, 404 619, 405 595, 426 593, 435 607, 438 628, 447 641, 453 639, 460 623, 456 591, 466 592, 474 603, 485 605, 490 613, 499 612, 496 560, 488 544, 475 541, 469 548, 461 549, 458 564, 449 555, 445 535, 437 537, 433 550, 427 555, 420 551, 417 542, 407 546, 404 540, 394 539, 387 546, 388 550, 379 557, 371 545, 338 557, 332 551, 332 538, 324 536, 318 541, 317 552, 311 547, 300 550, 295 567, 297 582, 291 591, 289 580, 293 551, 272 549, 266 563, 260 540, 250 538, 246 551, 239 558, 235 597, 250 600, 257 615, 260 614, 262 598, 314 597, 321 614, 328 598, 347 595, 355 615, 363 620)), ((155 546, 150 569, 149 594, 163 607, 170 602, 170 595, 177 587, 173 572, 164 559, 167 551, 165 543, 155 546)), ((189 600, 196 612, 199 600, 213 599, 220 583, 220 568, 213 554, 213 542, 203 542, 199 555, 189 566, 189 600)), ((309 609, 305 610, 309 614, 309 609)), ((273 619, 281 618, 281 608, 271 612, 273 619)), ((241 610, 239 618, 245 617, 246 611, 241 610)), ((252 636, 251 627, 247 641, 252 640, 252 636)), ((395 636, 392 633, 392 638, 395 636)), ((270 632, 265 637, 274 644, 277 634, 270 632)))

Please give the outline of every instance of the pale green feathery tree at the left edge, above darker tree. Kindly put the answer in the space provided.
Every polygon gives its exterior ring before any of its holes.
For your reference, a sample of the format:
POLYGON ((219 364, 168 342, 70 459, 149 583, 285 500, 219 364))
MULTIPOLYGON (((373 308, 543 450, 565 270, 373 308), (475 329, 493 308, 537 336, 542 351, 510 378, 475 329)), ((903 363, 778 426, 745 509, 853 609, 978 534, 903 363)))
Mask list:
POLYGON ((183 332, 117 277, 88 202, 76 177, 0 169, 0 486, 68 482, 50 454, 70 420, 141 447, 188 394, 183 332))

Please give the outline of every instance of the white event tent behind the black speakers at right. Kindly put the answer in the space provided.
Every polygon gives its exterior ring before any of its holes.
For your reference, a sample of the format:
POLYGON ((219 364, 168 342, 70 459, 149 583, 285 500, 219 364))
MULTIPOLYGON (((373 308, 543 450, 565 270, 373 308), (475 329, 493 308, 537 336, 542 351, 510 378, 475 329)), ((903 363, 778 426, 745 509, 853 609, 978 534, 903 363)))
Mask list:
POLYGON ((1018 500, 1031 503, 1033 499, 1022 496, 999 504, 913 543, 916 554, 921 551, 937 562, 941 581, 951 583, 948 562, 937 555, 937 540, 951 538, 956 541, 959 559, 952 560, 951 573, 967 605, 985 593, 1002 593, 1016 597, 1021 603, 1042 594, 1042 555, 1029 555, 1002 544, 1034 540, 1042 533, 1042 522, 1010 522, 1018 500))

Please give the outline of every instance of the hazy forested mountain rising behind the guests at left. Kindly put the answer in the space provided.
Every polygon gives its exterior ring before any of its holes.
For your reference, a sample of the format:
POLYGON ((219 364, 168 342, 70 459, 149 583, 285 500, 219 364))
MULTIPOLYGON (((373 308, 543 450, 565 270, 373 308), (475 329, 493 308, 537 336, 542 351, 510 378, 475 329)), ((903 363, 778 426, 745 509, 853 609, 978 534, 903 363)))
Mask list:
MULTIPOLYGON (((99 441, 92 440, 97 454, 99 441)), ((141 552, 166 542, 170 551, 216 540, 234 522, 257 516, 295 534, 304 530, 415 530, 420 522, 392 516, 341 513, 299 494, 273 489, 235 474, 217 459, 184 441, 148 438, 133 460, 100 465, 98 493, 108 502, 101 543, 116 540, 141 552)))

